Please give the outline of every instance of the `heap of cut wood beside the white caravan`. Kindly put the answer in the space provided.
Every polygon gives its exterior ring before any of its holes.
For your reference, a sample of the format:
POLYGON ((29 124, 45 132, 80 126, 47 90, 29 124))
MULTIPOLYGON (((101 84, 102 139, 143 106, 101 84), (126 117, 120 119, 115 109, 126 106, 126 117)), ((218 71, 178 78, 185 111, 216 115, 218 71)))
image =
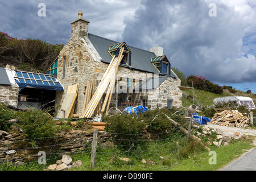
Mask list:
POLYGON ((215 113, 210 121, 214 125, 221 126, 236 126, 236 127, 247 127, 247 123, 250 122, 250 117, 245 117, 238 110, 224 110, 220 113, 215 113))

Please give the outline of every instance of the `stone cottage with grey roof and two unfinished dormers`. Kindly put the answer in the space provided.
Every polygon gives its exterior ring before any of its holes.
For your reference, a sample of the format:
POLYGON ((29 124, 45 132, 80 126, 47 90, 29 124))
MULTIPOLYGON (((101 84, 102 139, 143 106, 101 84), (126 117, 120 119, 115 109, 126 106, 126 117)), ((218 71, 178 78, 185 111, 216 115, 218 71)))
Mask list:
MULTIPOLYGON (((71 22, 71 39, 60 51, 52 67, 64 92, 56 91, 56 105, 61 105, 69 85, 79 84, 75 113, 82 115, 86 83, 93 81, 95 92, 113 56, 123 47, 123 59, 118 67, 111 106, 121 109, 125 103, 156 107, 181 107, 180 79, 171 70, 171 63, 163 55, 163 48, 149 51, 128 46, 89 34, 89 20, 79 18, 71 22)), ((103 103, 103 101, 102 101, 103 103)), ((58 113, 57 109, 55 113, 58 113)))

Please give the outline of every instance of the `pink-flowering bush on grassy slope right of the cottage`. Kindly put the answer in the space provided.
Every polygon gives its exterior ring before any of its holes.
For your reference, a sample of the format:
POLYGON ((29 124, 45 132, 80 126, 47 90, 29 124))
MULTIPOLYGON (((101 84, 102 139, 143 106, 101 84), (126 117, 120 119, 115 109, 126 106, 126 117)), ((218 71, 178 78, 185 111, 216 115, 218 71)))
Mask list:
POLYGON ((223 88, 221 86, 217 84, 213 84, 203 76, 195 76, 195 75, 188 76, 187 85, 192 86, 192 82, 193 82, 194 88, 199 90, 204 90, 205 92, 212 92, 216 94, 221 94, 223 92, 223 88))

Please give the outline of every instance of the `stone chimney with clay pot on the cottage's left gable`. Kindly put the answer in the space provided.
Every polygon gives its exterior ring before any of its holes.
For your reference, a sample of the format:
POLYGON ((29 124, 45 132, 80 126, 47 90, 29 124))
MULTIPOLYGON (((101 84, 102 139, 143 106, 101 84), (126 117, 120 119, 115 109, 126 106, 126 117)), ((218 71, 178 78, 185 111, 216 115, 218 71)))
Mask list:
POLYGON ((78 15, 79 15, 79 18, 71 22, 71 25, 72 25, 71 38, 88 36, 88 24, 90 22, 82 18, 81 11, 79 11, 78 15))

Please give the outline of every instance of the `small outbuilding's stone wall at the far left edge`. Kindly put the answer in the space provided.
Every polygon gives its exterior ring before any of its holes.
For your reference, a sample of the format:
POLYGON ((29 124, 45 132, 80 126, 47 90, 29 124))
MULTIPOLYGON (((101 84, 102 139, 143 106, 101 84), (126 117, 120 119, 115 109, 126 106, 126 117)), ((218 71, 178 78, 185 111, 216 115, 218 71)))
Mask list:
POLYGON ((16 85, 0 85, 0 102, 14 107, 18 106, 19 87, 16 85))

